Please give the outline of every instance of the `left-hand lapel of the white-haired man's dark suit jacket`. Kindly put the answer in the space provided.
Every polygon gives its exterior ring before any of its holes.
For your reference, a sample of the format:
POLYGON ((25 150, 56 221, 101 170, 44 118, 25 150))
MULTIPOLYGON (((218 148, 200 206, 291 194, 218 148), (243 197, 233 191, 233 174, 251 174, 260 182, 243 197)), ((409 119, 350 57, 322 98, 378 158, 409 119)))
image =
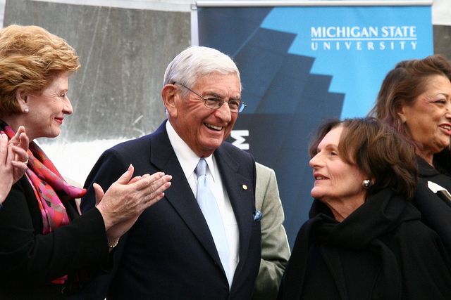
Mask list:
MULTIPOLYGON (((213 237, 208 225, 204 219, 204 215, 197 204, 197 200, 191 192, 190 184, 185 178, 183 169, 178 162, 177 156, 172 148, 171 142, 166 133, 166 122, 157 129, 151 137, 150 163, 156 169, 163 171, 165 174, 173 176, 171 180, 171 188, 165 191, 165 198, 178 212, 180 218, 190 228, 194 236, 197 237, 202 246, 206 249, 211 257, 221 266, 218 252, 214 244, 213 237)), ((226 273, 224 273, 226 276, 226 273)))

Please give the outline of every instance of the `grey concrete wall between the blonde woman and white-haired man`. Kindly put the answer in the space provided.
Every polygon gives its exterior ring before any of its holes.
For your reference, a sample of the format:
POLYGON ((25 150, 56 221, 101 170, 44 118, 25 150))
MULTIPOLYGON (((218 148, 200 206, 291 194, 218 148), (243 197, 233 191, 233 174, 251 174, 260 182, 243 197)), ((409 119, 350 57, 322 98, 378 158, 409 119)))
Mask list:
POLYGON ((74 114, 58 139, 135 138, 165 119, 163 73, 190 45, 189 13, 6 1, 4 26, 13 23, 46 28, 80 57, 68 93, 74 114))

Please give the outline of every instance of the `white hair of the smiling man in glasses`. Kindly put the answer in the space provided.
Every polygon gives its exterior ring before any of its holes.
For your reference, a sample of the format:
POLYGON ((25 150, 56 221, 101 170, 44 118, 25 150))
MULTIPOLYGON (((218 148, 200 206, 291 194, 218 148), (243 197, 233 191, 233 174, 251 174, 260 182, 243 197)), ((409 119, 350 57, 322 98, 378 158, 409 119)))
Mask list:
MULTIPOLYGON (((233 73, 240 79, 237 65, 226 54, 214 48, 190 46, 169 63, 164 72, 163 86, 177 82, 192 88, 199 77, 216 72, 233 73)), ((186 96, 187 93, 188 91, 185 90, 182 95, 186 96)))

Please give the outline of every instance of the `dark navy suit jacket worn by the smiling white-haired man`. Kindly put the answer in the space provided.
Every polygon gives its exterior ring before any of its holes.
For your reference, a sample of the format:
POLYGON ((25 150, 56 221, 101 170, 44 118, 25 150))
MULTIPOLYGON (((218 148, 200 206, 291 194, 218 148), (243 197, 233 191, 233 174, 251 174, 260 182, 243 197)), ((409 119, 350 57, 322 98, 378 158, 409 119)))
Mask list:
MULTIPOLYGON (((173 176, 165 197, 146 209, 116 249, 116 270, 94 282, 99 299, 250 299, 260 264, 260 224, 254 221, 256 171, 247 152, 223 143, 214 155, 240 230, 240 262, 229 292, 226 274, 202 211, 166 133, 166 122, 149 136, 104 152, 89 174, 82 211, 94 206, 92 183, 104 190, 130 164, 135 176, 163 171, 173 176), (246 188, 247 187, 247 188, 246 188)), ((85 291, 86 298, 92 298, 85 291)))

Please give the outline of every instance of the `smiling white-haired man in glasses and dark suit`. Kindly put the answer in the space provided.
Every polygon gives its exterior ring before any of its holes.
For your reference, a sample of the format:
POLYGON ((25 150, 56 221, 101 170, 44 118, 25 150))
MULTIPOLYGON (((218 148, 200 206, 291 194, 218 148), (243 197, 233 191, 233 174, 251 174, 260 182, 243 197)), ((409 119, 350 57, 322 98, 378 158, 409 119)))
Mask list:
POLYGON ((245 107, 240 73, 225 54, 191 46, 168 65, 161 96, 168 119, 101 155, 82 210, 94 207, 92 183, 106 190, 130 164, 135 175, 171 174, 172 186, 90 289, 108 299, 250 299, 261 257, 255 162, 224 142, 245 107))

